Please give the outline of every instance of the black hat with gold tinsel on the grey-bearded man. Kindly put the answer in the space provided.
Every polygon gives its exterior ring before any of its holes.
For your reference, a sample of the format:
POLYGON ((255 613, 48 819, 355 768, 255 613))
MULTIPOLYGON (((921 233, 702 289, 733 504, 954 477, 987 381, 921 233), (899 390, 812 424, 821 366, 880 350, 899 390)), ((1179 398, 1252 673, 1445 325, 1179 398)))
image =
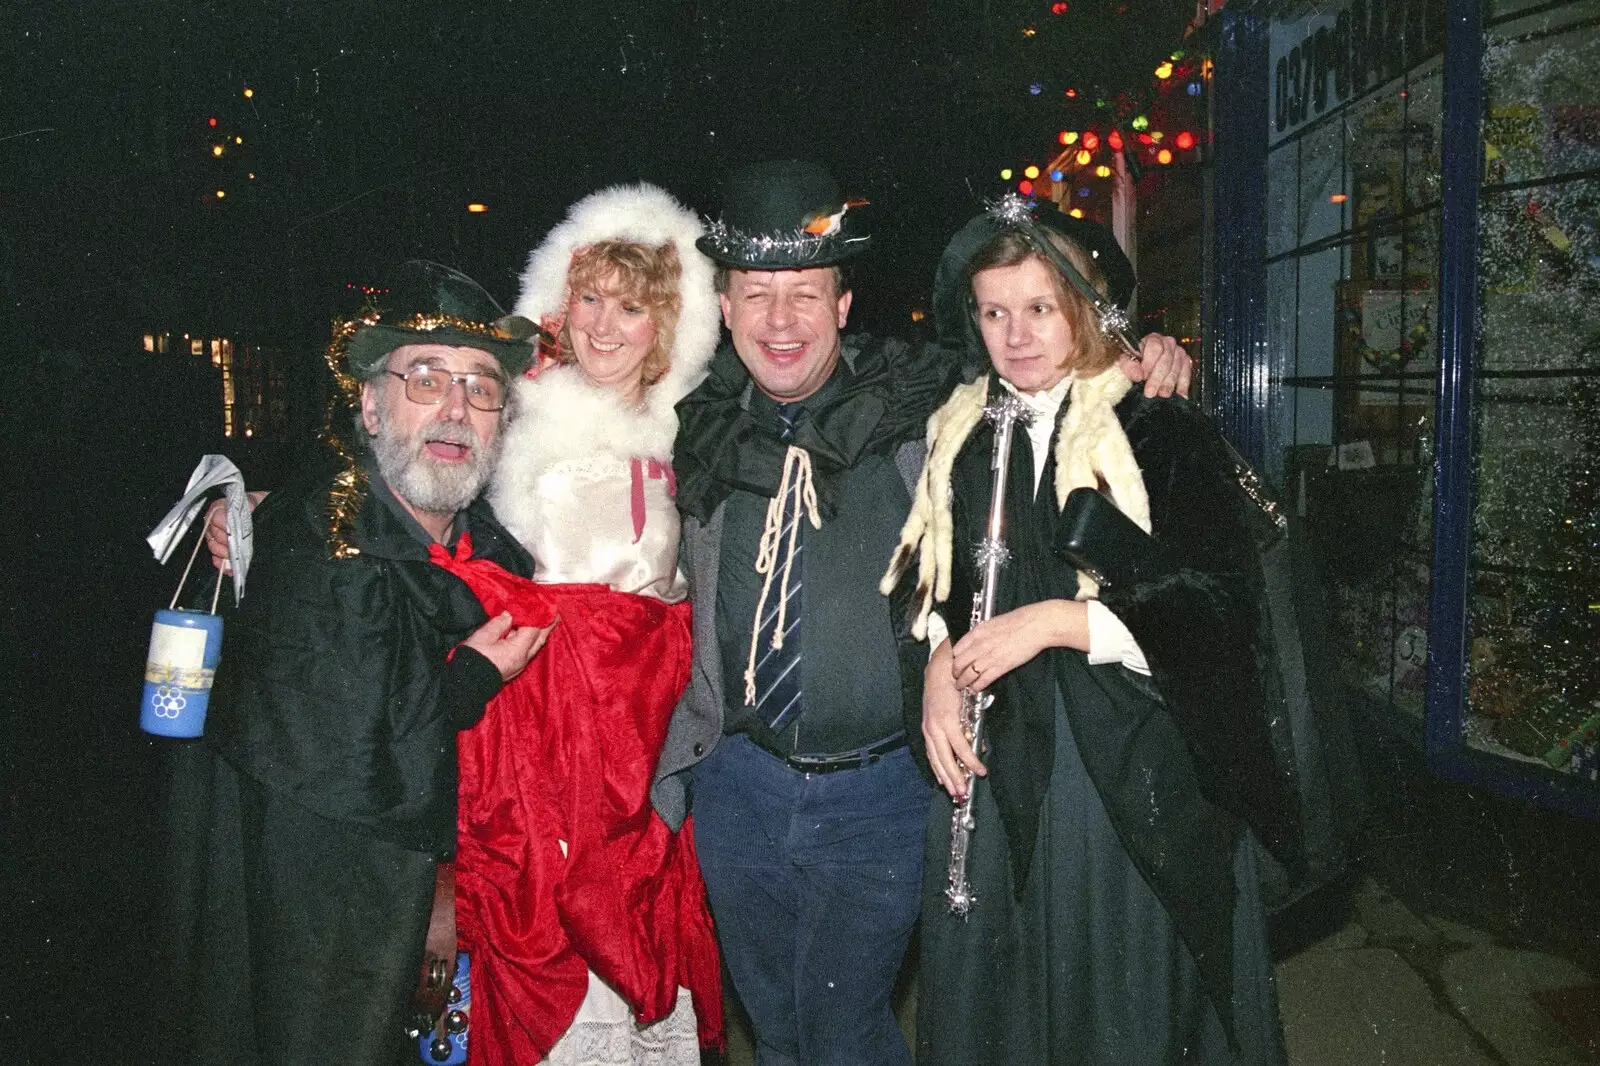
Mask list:
POLYGON ((390 271, 373 307, 344 346, 350 375, 366 378, 389 352, 405 344, 475 347, 499 360, 509 375, 533 362, 534 325, 507 315, 482 285, 461 271, 427 259, 408 259, 390 271))

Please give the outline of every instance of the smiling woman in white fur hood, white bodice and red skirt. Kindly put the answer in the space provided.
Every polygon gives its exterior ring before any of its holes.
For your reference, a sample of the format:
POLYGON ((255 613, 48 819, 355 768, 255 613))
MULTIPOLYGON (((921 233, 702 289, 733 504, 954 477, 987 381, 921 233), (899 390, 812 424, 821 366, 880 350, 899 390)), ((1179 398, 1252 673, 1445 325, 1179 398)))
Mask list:
POLYGON ((653 186, 573 206, 517 314, 555 338, 491 482, 533 581, 437 554, 493 613, 560 624, 461 735, 456 914, 474 1063, 698 1066, 720 962, 690 826, 651 810, 690 675, 674 403, 718 339, 699 219, 653 186))

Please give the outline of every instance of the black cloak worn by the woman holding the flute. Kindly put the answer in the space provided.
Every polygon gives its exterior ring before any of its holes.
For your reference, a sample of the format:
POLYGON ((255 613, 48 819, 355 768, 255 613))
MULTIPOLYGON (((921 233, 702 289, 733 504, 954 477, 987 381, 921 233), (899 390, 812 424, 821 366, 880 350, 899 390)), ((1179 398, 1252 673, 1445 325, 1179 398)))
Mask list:
MULTIPOLYGON (((1000 387, 992 383, 990 397, 1000 387)), ((989 786, 1021 895, 1050 786, 1059 691, 1123 848, 1166 908, 1229 1024, 1235 845, 1248 826, 1291 853, 1296 826, 1288 781, 1274 763, 1259 677, 1254 517, 1222 439, 1186 400, 1147 399, 1134 389, 1115 413, 1170 568, 1155 579, 1102 589, 1101 602, 1138 640, 1152 677, 1088 666, 1082 653, 1064 648, 1018 667, 994 688, 989 786), (1074 691, 1088 685, 1098 690, 1093 698, 1075 699, 1074 691), (1107 703, 1115 714, 1077 711, 1107 703)), ((957 551, 944 611, 952 642, 968 629, 976 570, 966 547, 982 535, 989 512, 992 448, 992 427, 979 424, 952 471, 957 551)), ((1032 504, 1032 464, 1026 443, 1013 447, 1005 528, 1013 559, 1000 570, 997 615, 1077 592, 1077 573, 1056 551, 1054 443, 1038 490, 1048 506, 1032 504)))

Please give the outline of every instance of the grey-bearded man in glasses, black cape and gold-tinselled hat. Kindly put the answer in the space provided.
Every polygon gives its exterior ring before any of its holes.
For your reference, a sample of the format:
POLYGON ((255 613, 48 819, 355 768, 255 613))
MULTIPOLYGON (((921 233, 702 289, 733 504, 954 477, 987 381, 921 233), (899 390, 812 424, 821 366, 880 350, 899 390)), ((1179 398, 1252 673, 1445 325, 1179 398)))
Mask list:
POLYGON ((360 445, 256 511, 206 735, 176 752, 163 1007, 186 1061, 395 1061, 454 852, 456 731, 547 634, 485 618, 430 562, 470 538, 531 573, 478 499, 533 355, 507 328, 477 283, 413 261, 334 331, 360 445))

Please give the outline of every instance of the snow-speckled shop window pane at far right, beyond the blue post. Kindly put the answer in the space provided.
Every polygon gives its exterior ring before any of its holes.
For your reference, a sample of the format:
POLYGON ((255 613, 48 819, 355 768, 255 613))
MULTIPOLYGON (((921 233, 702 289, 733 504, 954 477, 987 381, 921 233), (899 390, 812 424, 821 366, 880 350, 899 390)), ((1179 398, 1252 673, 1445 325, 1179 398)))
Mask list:
POLYGON ((1592 0, 1496 3, 1486 14, 1461 719, 1475 749, 1590 779, 1600 731, 1597 24, 1592 0))

